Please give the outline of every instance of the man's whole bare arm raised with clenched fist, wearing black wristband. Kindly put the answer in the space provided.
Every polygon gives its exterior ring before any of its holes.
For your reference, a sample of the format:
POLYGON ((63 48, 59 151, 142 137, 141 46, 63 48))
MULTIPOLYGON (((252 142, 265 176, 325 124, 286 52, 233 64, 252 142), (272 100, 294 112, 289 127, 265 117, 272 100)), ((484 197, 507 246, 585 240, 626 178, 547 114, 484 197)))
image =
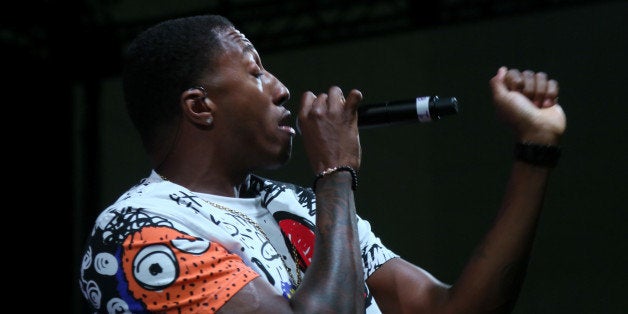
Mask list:
POLYGON ((566 118, 556 103, 558 82, 543 72, 500 67, 490 86, 499 117, 521 143, 495 222, 453 286, 403 260, 384 264, 368 282, 386 310, 508 313, 515 304, 566 118))

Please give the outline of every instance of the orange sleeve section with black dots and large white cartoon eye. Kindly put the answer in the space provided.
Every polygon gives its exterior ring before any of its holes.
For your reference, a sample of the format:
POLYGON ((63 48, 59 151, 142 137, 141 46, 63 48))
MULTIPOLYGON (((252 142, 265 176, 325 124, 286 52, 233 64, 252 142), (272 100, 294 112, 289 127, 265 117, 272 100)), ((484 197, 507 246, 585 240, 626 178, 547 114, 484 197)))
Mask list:
POLYGON ((121 261, 129 293, 163 313, 214 313, 259 276, 219 243, 170 227, 129 235, 121 261))

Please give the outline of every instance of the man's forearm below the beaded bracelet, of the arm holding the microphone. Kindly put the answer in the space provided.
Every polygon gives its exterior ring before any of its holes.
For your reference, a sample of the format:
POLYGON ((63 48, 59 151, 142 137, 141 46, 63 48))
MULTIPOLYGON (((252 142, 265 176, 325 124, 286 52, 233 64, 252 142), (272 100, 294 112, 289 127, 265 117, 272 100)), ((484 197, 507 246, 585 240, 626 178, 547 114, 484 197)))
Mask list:
POLYGON ((312 263, 291 303, 305 312, 364 311, 364 275, 351 175, 336 172, 316 185, 317 235, 312 263))

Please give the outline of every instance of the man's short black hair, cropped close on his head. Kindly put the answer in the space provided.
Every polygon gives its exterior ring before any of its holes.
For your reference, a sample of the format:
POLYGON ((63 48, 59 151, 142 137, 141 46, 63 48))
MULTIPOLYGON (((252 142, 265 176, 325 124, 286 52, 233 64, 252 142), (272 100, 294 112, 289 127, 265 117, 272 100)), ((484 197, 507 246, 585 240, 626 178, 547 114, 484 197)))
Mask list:
POLYGON ((234 27, 220 15, 161 22, 140 33, 125 55, 123 90, 127 111, 147 152, 181 115, 181 93, 211 75, 222 44, 218 35, 234 27))

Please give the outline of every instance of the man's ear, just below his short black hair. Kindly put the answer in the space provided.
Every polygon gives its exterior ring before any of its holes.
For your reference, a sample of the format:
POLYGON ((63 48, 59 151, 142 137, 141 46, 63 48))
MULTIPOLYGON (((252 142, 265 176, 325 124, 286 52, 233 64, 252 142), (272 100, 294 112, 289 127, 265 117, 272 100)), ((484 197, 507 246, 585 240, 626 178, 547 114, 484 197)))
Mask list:
POLYGON ((214 108, 214 103, 207 97, 205 91, 199 88, 190 88, 181 94, 183 116, 195 125, 211 126, 214 108))

